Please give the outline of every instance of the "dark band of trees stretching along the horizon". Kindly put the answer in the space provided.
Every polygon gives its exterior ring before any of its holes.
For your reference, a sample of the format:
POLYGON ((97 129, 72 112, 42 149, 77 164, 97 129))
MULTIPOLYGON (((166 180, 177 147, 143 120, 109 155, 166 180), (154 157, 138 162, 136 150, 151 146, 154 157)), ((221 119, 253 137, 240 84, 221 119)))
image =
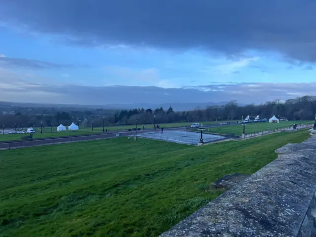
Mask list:
POLYGON ((149 124, 170 123, 170 122, 204 122, 204 121, 227 121, 231 119, 241 119, 246 116, 260 118, 271 118, 275 115, 277 118, 284 117, 289 120, 314 120, 316 113, 316 97, 304 96, 296 99, 290 99, 281 103, 280 100, 268 101, 264 104, 238 106, 236 101, 231 101, 223 106, 207 106, 206 108, 197 108, 191 111, 175 112, 172 107, 164 109, 135 108, 133 110, 120 110, 113 113, 107 110, 91 111, 64 111, 57 112, 54 115, 33 116, 17 113, 15 115, 0 116, 0 124, 5 127, 23 126, 57 126, 60 123, 70 125, 72 122, 82 126, 102 126, 103 119, 105 125, 118 124, 149 124))

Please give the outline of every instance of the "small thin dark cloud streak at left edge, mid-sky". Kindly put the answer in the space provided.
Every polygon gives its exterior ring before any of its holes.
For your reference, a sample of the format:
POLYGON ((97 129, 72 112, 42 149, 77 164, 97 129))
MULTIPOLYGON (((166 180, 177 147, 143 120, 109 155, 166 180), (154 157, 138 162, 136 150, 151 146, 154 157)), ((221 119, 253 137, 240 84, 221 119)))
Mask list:
POLYGON ((0 66, 1 66, 1 63, 9 67, 28 67, 28 68, 33 68, 33 69, 61 69, 61 68, 78 67, 75 65, 58 64, 58 63, 50 63, 50 62, 45 62, 45 61, 40 61, 40 60, 25 59, 25 58, 9 58, 9 57, 0 57, 0 66))

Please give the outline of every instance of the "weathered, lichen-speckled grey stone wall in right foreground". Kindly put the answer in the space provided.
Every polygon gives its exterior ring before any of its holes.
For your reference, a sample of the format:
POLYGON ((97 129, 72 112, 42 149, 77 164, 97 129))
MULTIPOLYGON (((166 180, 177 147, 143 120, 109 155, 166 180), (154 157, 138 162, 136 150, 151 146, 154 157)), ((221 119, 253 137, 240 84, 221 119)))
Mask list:
POLYGON ((161 237, 315 236, 316 136, 276 153, 276 160, 161 237))

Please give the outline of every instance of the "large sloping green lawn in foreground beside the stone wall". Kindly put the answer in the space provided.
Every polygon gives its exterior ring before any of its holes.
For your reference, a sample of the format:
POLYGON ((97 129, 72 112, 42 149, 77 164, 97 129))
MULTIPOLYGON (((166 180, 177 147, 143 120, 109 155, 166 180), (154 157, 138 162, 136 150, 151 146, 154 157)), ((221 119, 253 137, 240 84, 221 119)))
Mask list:
POLYGON ((187 146, 115 138, 0 151, 0 236, 156 237, 252 174, 305 130, 187 146))

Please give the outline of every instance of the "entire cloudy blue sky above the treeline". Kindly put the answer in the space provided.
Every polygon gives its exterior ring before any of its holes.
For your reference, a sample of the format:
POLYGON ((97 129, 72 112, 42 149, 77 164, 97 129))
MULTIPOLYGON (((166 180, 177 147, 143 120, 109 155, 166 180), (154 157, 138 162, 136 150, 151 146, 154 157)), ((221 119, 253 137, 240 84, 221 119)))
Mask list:
POLYGON ((0 0, 0 101, 316 95, 316 0, 0 0))

